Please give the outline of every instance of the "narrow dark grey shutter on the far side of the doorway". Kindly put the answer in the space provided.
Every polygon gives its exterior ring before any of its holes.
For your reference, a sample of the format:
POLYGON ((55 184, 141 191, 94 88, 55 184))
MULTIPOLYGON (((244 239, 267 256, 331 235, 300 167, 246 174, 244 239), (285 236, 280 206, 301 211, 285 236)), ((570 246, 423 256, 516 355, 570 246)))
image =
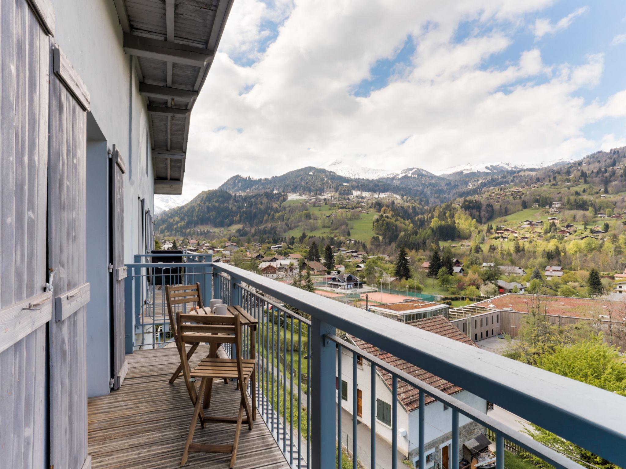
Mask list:
POLYGON ((126 371, 126 320, 124 305, 124 173, 126 166, 120 151, 113 145, 113 389, 119 389, 126 371))

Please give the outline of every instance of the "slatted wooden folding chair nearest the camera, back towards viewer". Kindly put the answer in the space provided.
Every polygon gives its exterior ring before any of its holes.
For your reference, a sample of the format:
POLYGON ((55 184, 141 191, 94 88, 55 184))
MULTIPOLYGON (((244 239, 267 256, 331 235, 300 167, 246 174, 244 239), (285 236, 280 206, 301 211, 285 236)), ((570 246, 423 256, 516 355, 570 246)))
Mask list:
MULTIPOLYGON (((239 445, 239 434, 241 432, 242 423, 247 423, 248 428, 252 430, 252 411, 247 396, 248 381, 254 371, 255 361, 245 360, 242 358, 242 341, 241 341, 241 323, 239 313, 233 316, 217 316, 217 315, 183 315, 180 311, 177 313, 178 337, 182 347, 180 351, 180 360, 183 365, 183 376, 185 383, 192 396, 193 416, 192 423, 189 427, 187 435, 187 443, 183 451, 183 458, 180 465, 187 463, 189 451, 200 451, 209 453, 230 453, 230 467, 235 465, 237 458, 237 446, 239 445), (185 343, 195 343, 198 337, 203 342, 210 342, 212 346, 217 347, 219 344, 230 343, 235 347, 236 358, 213 358, 212 356, 204 358, 198 366, 193 368, 189 366, 187 354, 185 353, 185 343), (196 390, 195 383, 191 382, 191 378, 201 378, 200 389, 196 390), (215 379, 237 378, 239 381, 239 389, 241 400, 239 403, 239 414, 237 418, 205 416, 202 406, 202 395, 207 388, 208 383, 212 383, 215 379), (243 419, 244 411, 246 419, 243 419), (218 421, 223 423, 235 423, 235 440, 232 445, 205 445, 192 443, 193 433, 198 417, 200 417, 200 425, 204 428, 206 421, 218 421)), ((233 389, 234 392, 237 390, 233 389)))

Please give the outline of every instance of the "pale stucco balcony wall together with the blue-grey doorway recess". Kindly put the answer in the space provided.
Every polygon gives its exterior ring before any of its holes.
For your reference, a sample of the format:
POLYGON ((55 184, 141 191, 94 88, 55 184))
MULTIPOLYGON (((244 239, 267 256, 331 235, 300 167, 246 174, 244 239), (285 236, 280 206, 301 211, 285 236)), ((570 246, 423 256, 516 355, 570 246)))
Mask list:
MULTIPOLYGON (((145 199, 145 209, 154 213, 148 114, 145 100, 138 93, 139 83, 131 56, 123 51, 123 32, 113 0, 52 2, 56 17, 54 43, 85 83, 91 101, 90 129, 97 127, 100 134, 98 144, 88 143, 87 170, 90 221, 87 246, 93 251, 88 255, 90 265, 87 266, 91 283, 91 301, 87 305, 87 366, 88 393, 95 396, 108 393, 111 378, 109 286, 105 281, 108 279, 108 220, 101 219, 106 217, 108 200, 106 149, 115 144, 126 163, 124 259, 131 263, 133 255, 139 251, 142 229, 138 199, 145 199), (97 168, 91 166, 94 161, 97 168)), ((93 135, 90 136, 90 140, 93 139, 93 135)))

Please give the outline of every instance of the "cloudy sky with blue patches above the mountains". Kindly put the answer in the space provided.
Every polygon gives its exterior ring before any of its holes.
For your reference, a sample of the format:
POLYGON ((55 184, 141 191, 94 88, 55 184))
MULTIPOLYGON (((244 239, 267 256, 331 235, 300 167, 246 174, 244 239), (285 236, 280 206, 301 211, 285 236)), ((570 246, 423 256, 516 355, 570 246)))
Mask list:
POLYGON ((234 174, 438 172, 626 145, 626 2, 235 0, 183 199, 234 174))

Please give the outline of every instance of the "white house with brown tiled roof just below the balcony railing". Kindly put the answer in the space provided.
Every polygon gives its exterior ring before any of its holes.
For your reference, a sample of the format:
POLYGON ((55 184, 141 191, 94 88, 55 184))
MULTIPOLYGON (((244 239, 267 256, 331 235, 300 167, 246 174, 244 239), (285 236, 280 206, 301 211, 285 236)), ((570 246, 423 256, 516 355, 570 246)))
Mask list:
MULTIPOLYGON (((450 340, 464 343, 467 346, 476 346, 468 336, 452 325, 444 316, 435 316, 419 321, 413 321, 409 325, 420 328, 430 333, 435 333, 450 340)), ((419 380, 431 383, 439 391, 448 395, 454 395, 459 401, 475 408, 478 411, 486 412, 486 401, 469 391, 463 390, 446 380, 437 378, 431 373, 410 365, 397 356, 390 355, 365 341, 352 335, 343 336, 344 340, 366 353, 376 356, 386 361, 390 365, 396 366, 405 373, 418 378, 419 380)), ((354 399, 357 403, 357 420, 367 426, 371 426, 372 418, 376 418, 376 433, 382 439, 391 442, 391 410, 393 408, 392 398, 392 376, 386 371, 376 370, 376 415, 372 415, 371 406, 367 405, 371 401, 371 368, 366 360, 359 360, 357 357, 357 391, 353 395, 352 384, 352 352, 347 348, 341 350, 341 379, 336 377, 337 401, 341 400, 341 405, 350 418, 354 399)), ((449 461, 456 460, 452 455, 452 410, 443 403, 434 400, 431 396, 426 396, 425 417, 429 422, 424 428, 424 458, 425 467, 452 468, 449 461)), ((418 419, 419 419, 419 391, 412 386, 398 381, 398 451, 411 461, 416 467, 419 466, 418 450, 418 419)), ((468 441, 475 438, 484 431, 483 428, 466 418, 459 416, 459 440, 468 441)), ((459 448, 460 450, 460 448, 459 448)), ((459 453, 460 457, 460 453, 459 453)))

